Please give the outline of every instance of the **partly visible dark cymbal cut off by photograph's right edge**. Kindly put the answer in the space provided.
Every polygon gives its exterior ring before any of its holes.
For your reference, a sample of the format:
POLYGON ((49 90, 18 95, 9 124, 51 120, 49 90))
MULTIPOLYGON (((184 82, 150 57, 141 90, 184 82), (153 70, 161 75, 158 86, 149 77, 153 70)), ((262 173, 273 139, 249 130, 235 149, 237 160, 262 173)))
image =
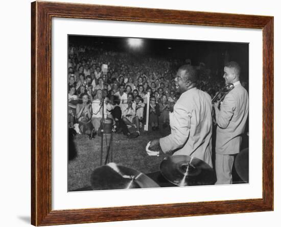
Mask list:
POLYGON ((249 182, 249 148, 241 150, 236 156, 234 166, 242 181, 249 182))

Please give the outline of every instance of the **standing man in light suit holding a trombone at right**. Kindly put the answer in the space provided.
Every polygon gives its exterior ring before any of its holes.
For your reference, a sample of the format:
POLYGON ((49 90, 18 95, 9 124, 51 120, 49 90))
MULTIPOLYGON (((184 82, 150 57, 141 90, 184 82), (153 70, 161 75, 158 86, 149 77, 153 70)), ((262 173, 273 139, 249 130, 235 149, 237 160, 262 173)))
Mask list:
POLYGON ((214 104, 217 122, 216 138, 216 184, 232 183, 232 165, 235 154, 240 152, 242 134, 249 111, 249 98, 246 89, 240 84, 240 66, 236 62, 228 62, 224 67, 225 84, 233 84, 221 102, 214 104))

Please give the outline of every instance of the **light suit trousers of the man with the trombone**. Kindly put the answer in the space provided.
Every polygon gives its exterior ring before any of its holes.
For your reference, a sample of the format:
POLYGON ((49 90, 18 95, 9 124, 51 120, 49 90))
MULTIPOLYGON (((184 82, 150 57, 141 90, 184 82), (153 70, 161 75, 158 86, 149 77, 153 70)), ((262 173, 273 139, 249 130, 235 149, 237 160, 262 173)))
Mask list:
POLYGON ((216 153, 216 185, 232 184, 232 166, 234 155, 221 155, 216 153))

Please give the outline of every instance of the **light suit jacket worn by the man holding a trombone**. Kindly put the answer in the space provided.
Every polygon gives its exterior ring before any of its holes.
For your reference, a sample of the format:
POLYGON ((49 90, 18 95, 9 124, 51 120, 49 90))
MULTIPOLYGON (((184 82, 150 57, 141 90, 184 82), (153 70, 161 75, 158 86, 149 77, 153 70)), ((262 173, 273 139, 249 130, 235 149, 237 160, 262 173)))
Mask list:
POLYGON ((235 87, 225 96, 220 111, 216 111, 218 124, 216 153, 232 155, 240 152, 248 112, 248 92, 240 82, 237 82, 235 87))

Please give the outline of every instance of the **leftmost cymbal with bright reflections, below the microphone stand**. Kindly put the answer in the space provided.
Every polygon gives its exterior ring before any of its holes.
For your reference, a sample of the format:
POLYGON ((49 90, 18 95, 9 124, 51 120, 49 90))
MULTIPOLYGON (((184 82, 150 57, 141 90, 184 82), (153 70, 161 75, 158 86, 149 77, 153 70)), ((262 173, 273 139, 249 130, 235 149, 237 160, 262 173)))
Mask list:
POLYGON ((93 190, 160 187, 144 173, 113 162, 93 170, 90 182, 93 190))

